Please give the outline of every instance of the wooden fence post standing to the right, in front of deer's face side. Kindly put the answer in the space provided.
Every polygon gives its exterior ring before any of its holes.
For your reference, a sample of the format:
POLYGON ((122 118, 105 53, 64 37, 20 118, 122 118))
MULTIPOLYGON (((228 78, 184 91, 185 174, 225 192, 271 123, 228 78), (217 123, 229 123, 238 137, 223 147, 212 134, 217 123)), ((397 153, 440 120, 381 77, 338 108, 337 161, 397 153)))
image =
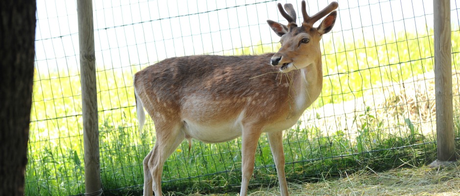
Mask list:
POLYGON ((454 161, 450 0, 434 0, 437 161, 454 161))

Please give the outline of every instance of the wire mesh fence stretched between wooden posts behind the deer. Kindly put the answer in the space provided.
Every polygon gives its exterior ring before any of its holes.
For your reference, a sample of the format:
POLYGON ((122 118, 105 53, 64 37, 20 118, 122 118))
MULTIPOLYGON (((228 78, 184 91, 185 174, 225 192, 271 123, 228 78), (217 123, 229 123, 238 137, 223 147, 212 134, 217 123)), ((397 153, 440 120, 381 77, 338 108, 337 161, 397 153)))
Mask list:
MULTIPOLYGON (((105 195, 140 193, 155 143, 138 132, 133 74, 162 59, 279 49, 267 19, 276 0, 93 0, 101 180, 105 195)), ((300 1, 290 0, 300 13, 300 1)), ((316 13, 330 0, 307 0, 316 13)), ((453 99, 459 137, 460 1, 451 1, 453 99)), ((298 14, 299 15, 299 14, 298 14)), ((37 0, 36 60, 26 195, 83 195, 76 2, 37 0)), ((436 158, 432 0, 340 0, 321 41, 323 90, 284 132, 288 181, 424 165, 436 158)), ((458 144, 458 143, 457 143, 458 144)), ((250 186, 275 186, 265 135, 250 186)), ((163 191, 229 192, 241 178, 241 139, 186 141, 163 168, 163 191)))

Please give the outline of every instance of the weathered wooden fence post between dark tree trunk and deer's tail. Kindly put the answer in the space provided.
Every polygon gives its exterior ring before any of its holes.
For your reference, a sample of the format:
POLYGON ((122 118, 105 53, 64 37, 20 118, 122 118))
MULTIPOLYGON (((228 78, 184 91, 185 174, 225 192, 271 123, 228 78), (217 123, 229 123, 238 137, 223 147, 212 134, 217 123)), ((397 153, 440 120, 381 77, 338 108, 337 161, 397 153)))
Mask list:
POLYGON ((87 196, 102 194, 99 166, 96 69, 92 0, 77 0, 80 81, 85 149, 85 189, 87 196))

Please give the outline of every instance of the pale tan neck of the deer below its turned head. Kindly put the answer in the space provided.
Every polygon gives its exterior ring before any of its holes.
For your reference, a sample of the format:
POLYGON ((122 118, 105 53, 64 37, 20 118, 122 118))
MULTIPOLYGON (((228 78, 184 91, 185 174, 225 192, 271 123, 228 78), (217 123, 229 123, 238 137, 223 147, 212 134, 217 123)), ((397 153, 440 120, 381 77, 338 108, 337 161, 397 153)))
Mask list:
POLYGON ((294 75, 293 91, 290 91, 295 112, 303 113, 313 101, 318 98, 322 90, 322 62, 315 63, 300 69, 294 75))

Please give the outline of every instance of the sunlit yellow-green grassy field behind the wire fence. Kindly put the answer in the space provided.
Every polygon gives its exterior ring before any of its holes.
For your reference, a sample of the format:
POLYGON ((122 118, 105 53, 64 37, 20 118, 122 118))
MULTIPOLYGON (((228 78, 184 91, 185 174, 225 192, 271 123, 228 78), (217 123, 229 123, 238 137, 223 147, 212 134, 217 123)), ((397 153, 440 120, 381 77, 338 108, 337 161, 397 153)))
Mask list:
MULTIPOLYGON (((401 83, 415 75, 431 72, 434 52, 430 35, 432 31, 426 35, 397 34, 376 41, 324 43, 323 91, 314 107, 349 100, 360 101, 363 95, 389 82, 401 83)), ((453 32, 452 36, 454 63, 457 63, 460 60, 460 46, 456 40, 460 40, 460 33, 453 32)), ((233 52, 259 53, 273 50, 270 47, 261 45, 233 52)), ((99 67, 97 70, 100 163, 102 185, 107 191, 105 195, 138 195, 142 189, 142 159, 155 142, 153 122, 147 122, 144 135, 140 137, 135 120, 132 75, 144 66, 118 69, 99 67)), ((460 65, 455 64, 454 68, 457 70, 460 65)), ((458 97, 458 92, 454 96, 458 97)), ((368 107, 368 110, 356 116, 356 121, 361 123, 355 130, 306 127, 299 122, 286 131, 284 149, 288 181, 323 183, 356 171, 378 172, 395 167, 419 167, 436 158, 433 132, 418 132, 421 122, 411 119, 396 122, 393 128, 398 132, 395 134, 381 123, 381 119, 375 118, 372 111, 376 109, 368 107)), ((404 114, 404 111, 400 112, 404 114)), ((458 137, 459 114, 456 113, 455 117, 458 137)), ((313 118, 325 117, 314 115, 313 118)), ((81 124, 78 72, 37 69, 26 195, 84 193, 81 124)), ((188 144, 182 143, 164 166, 163 190, 171 193, 226 193, 238 190, 241 176, 240 143, 240 139, 222 144, 195 141, 190 152, 188 144)), ((251 181, 253 190, 276 185, 276 171, 265 135, 259 141, 256 168, 251 181)))

